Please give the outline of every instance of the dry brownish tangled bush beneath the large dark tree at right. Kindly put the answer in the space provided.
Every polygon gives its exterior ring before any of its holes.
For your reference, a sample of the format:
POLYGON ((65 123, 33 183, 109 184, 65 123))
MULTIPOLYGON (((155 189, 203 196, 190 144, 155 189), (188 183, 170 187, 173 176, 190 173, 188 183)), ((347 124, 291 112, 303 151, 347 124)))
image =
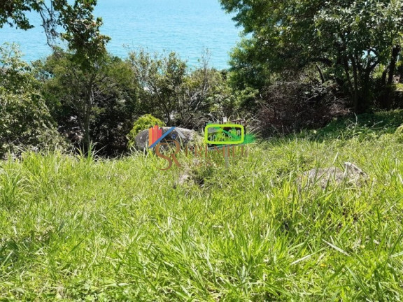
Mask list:
POLYGON ((348 113, 346 102, 332 86, 318 82, 277 82, 266 89, 260 101, 257 129, 268 137, 324 127, 333 117, 348 113))

